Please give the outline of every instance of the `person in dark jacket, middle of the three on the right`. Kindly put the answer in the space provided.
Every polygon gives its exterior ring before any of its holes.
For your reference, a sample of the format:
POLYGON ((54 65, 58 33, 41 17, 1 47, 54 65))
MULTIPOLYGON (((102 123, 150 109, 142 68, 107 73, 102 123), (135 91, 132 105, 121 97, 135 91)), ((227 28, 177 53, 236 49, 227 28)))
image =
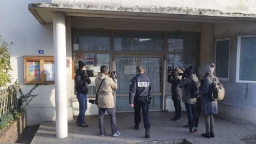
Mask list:
MULTIPOLYGON (((193 74, 193 68, 190 66, 185 69, 184 74, 180 81, 180 88, 183 88, 183 102, 185 103, 185 108, 187 110, 188 124, 184 127, 189 127, 190 132, 193 129, 193 113, 194 113, 194 104, 196 104, 196 97, 194 93, 200 87, 199 79, 195 74, 193 74)), ((195 121, 196 126, 199 127, 199 120, 195 121)))

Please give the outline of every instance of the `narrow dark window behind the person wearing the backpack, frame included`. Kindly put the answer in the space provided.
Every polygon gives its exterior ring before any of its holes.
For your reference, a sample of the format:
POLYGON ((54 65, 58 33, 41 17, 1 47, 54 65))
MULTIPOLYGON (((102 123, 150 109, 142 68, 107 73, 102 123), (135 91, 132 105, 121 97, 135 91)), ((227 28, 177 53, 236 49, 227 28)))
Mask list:
POLYGON ((216 76, 221 80, 229 80, 229 47, 230 38, 215 40, 216 76))

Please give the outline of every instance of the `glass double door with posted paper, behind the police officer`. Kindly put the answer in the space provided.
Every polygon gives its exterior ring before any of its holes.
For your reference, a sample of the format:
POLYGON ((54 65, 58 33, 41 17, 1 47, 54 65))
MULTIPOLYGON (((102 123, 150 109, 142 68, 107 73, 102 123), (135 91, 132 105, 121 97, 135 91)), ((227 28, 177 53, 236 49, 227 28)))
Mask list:
POLYGON ((150 110, 161 110, 162 57, 152 56, 116 56, 118 90, 116 91, 116 110, 133 111, 129 107, 129 88, 131 79, 137 75, 136 67, 143 65, 145 74, 152 81, 152 103, 150 110))

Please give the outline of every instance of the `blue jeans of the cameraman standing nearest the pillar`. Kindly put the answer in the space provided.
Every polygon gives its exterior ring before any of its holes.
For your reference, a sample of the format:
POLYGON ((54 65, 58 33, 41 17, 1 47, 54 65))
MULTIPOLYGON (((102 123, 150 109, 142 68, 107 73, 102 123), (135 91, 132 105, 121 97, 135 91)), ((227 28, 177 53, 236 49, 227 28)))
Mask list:
POLYGON ((76 93, 76 98, 79 102, 79 114, 77 118, 77 122, 82 124, 85 123, 84 116, 85 111, 87 110, 87 95, 82 93, 76 93))

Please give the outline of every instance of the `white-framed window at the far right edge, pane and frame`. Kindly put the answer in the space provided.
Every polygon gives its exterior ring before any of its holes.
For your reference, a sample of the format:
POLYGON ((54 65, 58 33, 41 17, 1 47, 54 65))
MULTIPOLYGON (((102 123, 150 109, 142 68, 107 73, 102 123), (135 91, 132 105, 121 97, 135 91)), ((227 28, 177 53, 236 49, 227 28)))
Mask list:
POLYGON ((236 82, 256 84, 256 36, 238 36, 236 82))

